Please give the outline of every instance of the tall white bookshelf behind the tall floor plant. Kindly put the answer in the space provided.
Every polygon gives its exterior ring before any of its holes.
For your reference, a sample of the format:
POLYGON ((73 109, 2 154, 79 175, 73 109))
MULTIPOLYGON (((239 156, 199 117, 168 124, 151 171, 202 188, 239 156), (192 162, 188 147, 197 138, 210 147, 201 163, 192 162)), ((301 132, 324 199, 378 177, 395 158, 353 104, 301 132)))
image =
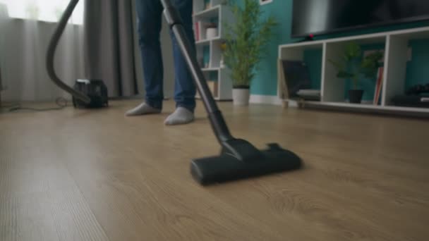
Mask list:
POLYGON ((193 22, 194 32, 197 31, 195 23, 198 22, 214 23, 217 26, 218 35, 210 39, 207 39, 205 27, 200 27, 200 38, 196 39, 195 45, 198 61, 203 62, 204 59, 208 59, 207 66, 201 63, 201 68, 209 87, 212 88, 214 99, 226 101, 232 99, 232 82, 229 69, 221 66, 221 44, 225 34, 223 23, 231 22, 234 18, 230 7, 223 5, 222 2, 223 0, 194 0, 193 22))

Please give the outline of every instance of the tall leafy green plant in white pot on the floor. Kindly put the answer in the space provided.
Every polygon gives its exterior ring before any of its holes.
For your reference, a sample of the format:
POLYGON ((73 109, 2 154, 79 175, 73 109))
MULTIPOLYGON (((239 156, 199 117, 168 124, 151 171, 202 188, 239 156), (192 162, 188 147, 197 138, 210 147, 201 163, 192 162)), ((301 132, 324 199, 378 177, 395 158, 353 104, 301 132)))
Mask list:
POLYGON ((226 44, 222 57, 224 65, 231 70, 234 104, 248 105, 250 82, 267 52, 265 47, 277 23, 272 16, 262 18, 258 1, 244 0, 240 5, 243 7, 231 4, 235 22, 224 23, 226 44))

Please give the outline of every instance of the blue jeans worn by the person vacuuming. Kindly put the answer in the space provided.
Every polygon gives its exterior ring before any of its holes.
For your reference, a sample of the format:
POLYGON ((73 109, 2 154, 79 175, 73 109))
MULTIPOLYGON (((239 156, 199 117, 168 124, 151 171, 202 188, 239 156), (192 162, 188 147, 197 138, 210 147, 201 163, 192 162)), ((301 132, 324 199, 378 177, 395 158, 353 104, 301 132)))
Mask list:
MULTIPOLYGON (((193 0, 172 0, 176 6, 186 35, 193 44, 195 54, 195 39, 193 34, 193 0)), ((145 78, 145 101, 150 106, 162 109, 164 99, 163 78, 164 66, 162 63, 161 44, 159 35, 162 27, 162 11, 164 10, 159 0, 136 0, 138 16, 138 41, 140 44, 141 57, 143 61, 143 76, 145 78)), ((191 72, 188 70, 185 58, 176 41, 176 37, 170 30, 173 42, 174 57, 174 100, 176 106, 185 107, 190 111, 195 109, 195 83, 191 72)))

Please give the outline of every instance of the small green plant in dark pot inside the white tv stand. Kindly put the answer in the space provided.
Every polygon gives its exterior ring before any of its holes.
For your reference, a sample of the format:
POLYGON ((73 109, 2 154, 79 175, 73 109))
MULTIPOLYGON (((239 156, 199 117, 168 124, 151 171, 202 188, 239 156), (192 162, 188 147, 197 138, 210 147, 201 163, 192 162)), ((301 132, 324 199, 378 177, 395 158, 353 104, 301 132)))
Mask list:
POLYGON ((355 42, 350 42, 344 47, 342 62, 329 60, 338 70, 337 78, 351 80, 352 89, 349 89, 350 103, 360 104, 363 97, 363 89, 360 89, 360 80, 374 78, 380 68, 380 60, 383 57, 381 51, 374 51, 362 57, 361 47, 355 42))

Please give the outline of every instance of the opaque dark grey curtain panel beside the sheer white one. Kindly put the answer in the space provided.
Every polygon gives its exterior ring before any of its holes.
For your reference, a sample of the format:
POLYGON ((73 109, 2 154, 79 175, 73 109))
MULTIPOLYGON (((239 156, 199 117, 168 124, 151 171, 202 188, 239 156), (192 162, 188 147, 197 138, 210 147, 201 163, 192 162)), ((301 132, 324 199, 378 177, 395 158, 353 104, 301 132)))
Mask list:
POLYGON ((85 1, 86 78, 102 79, 109 97, 138 94, 132 0, 85 1))

